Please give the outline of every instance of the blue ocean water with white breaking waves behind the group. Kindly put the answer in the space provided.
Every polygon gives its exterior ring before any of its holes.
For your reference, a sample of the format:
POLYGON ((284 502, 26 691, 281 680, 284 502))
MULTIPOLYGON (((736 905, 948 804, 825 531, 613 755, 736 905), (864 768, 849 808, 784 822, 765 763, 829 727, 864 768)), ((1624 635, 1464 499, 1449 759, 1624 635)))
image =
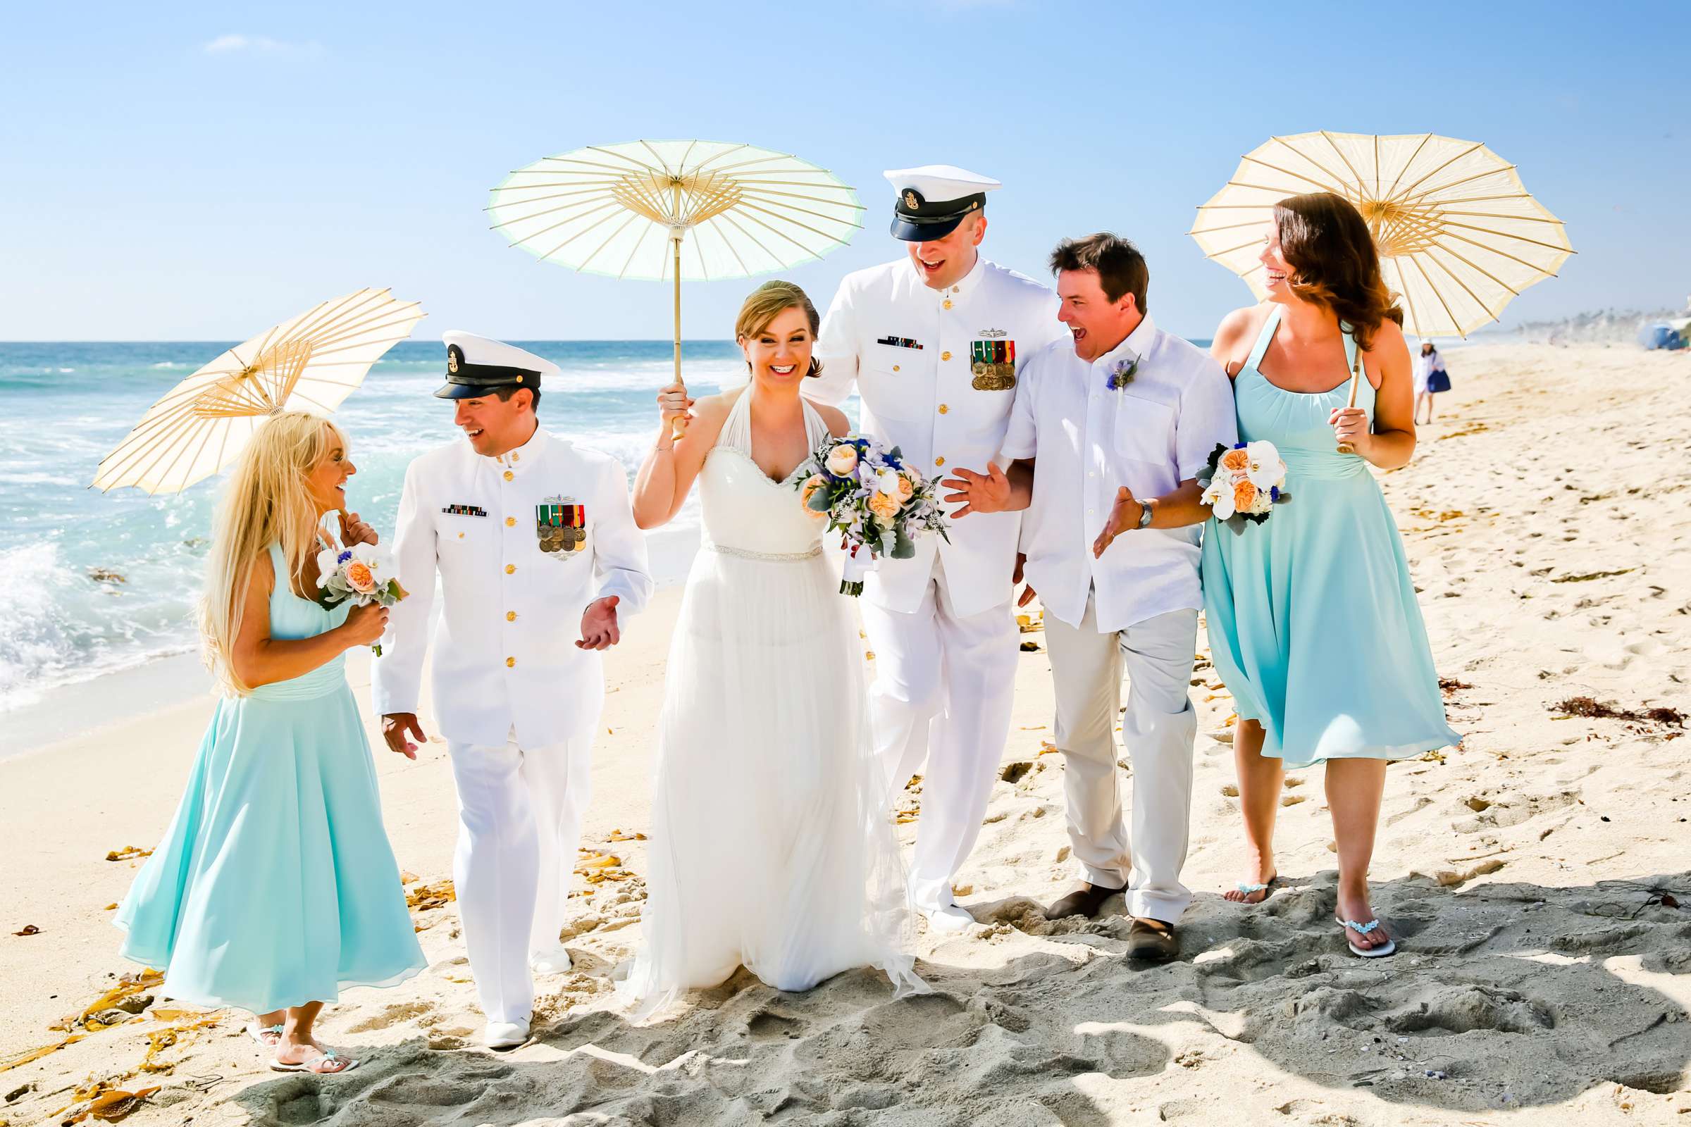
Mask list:
MULTIPOLYGON (((88 488, 142 412, 228 343, 0 343, 0 713, 61 684, 193 651, 193 605, 223 476, 186 493, 88 488)), ((638 468, 670 382, 668 341, 524 341, 561 370, 539 417, 556 434, 638 468)), ((744 370, 732 341, 683 343, 688 389, 744 370)), ((406 465, 463 441, 436 341, 404 341, 337 412, 358 473, 350 507, 392 529, 406 465)), ((683 520, 690 514, 683 512, 683 520)))

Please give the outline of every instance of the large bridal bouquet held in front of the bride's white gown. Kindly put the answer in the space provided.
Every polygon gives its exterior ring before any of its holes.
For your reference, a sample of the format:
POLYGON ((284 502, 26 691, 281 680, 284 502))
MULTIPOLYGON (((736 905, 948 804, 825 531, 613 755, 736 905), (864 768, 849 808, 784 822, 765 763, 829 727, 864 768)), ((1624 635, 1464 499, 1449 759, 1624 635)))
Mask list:
POLYGON ((881 556, 915 556, 915 539, 923 532, 950 541, 933 483, 905 465, 898 446, 886 449, 857 433, 830 438, 795 476, 805 509, 840 534, 846 549, 840 595, 862 595, 862 576, 881 556))

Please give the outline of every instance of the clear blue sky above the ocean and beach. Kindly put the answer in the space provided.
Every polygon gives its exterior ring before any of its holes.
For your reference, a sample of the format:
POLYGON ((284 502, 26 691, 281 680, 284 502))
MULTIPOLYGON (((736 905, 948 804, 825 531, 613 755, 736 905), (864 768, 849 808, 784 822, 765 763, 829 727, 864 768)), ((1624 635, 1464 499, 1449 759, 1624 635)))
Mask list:
MULTIPOLYGON (((0 5, 0 340, 230 340, 360 286, 418 336, 666 338, 668 291, 506 248, 487 189, 639 137, 795 152, 857 186, 852 245, 790 272, 825 304, 901 247, 881 169, 1004 182, 988 253, 1140 243, 1150 308, 1207 336, 1245 286, 1187 238, 1273 133, 1481 140, 1579 253, 1505 314, 1691 292, 1681 5, 0 5), (1677 201, 1677 204, 1674 203, 1677 201)), ((683 287, 722 338, 751 284, 683 287)))

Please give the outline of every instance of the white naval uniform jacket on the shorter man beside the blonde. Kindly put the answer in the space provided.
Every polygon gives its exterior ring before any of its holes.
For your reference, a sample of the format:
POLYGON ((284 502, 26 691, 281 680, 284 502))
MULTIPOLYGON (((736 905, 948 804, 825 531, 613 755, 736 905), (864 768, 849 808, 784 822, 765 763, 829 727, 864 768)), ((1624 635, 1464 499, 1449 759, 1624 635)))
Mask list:
POLYGON ((435 574, 435 720, 463 743, 543 747, 587 735, 599 723, 605 681, 600 657, 577 649, 582 612, 621 596, 619 623, 651 598, 646 537, 634 525, 627 478, 610 456, 543 429, 501 456, 453 443, 406 470, 394 534, 399 602, 372 661, 377 715, 414 713, 435 574), (551 498, 583 505, 578 551, 541 551, 536 507, 551 498))

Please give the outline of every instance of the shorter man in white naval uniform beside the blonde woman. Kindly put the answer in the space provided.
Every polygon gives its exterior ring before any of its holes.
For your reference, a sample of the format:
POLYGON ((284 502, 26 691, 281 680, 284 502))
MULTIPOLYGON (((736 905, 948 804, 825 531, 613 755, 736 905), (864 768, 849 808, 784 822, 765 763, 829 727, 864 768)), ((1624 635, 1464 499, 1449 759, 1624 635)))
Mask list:
POLYGON ((599 651, 651 596, 646 537, 614 458, 539 427, 558 367, 470 333, 445 333, 453 422, 465 443, 414 460, 394 559, 411 596, 372 664, 387 747, 416 759, 418 683, 435 574, 435 718, 458 789, 453 880, 484 1039, 529 1036, 531 968, 570 968, 558 943, 604 705, 599 651))

